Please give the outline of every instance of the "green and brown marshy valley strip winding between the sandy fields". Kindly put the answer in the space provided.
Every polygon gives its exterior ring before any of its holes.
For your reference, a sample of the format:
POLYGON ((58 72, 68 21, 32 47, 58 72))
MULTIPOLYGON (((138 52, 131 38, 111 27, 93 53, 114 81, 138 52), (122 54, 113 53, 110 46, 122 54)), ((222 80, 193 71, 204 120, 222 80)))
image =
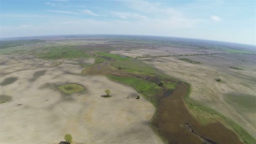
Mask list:
POLYGON ((221 122, 216 121, 203 125, 190 114, 183 99, 184 96, 189 94, 189 85, 186 83, 168 78, 168 76, 150 69, 150 66, 145 63, 141 63, 138 69, 134 67, 130 69, 130 65, 140 64, 131 58, 125 58, 124 62, 121 57, 121 59, 118 57, 120 60, 115 59, 116 55, 100 54, 111 58, 111 60, 107 59, 107 62, 89 67, 83 71, 83 74, 104 74, 112 80, 133 86, 156 107, 155 116, 152 118, 150 125, 164 142, 171 144, 243 143, 234 131, 221 122), (112 66, 115 66, 115 68, 112 66), (101 67, 101 69, 98 69, 98 67, 101 67), (122 67, 122 69, 118 67, 122 67), (159 85, 161 81, 163 85, 159 85), (172 87, 166 86, 168 84, 173 85, 172 87))

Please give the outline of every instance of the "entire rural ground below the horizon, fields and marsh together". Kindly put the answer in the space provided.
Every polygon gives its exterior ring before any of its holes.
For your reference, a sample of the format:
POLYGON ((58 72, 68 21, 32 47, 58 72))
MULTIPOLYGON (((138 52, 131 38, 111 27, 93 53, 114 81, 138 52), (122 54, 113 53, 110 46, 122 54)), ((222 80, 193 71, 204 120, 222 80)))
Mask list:
POLYGON ((0 54, 3 144, 256 143, 255 46, 73 35, 0 54))

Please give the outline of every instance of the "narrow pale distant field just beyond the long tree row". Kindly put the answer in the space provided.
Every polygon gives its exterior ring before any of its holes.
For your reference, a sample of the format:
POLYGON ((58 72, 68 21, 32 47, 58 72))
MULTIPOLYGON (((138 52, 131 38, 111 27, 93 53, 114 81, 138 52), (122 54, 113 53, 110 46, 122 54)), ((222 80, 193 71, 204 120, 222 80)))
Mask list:
MULTIPOLYGON (((191 49, 191 48, 174 48, 174 47, 161 47, 157 49, 140 48, 131 51, 111 51, 113 54, 120 54, 124 56, 130 56, 135 58, 136 56, 143 55, 178 55, 178 54, 194 54, 194 53, 220 53, 221 51, 209 50, 209 49, 191 49)), ((223 53, 223 51, 222 51, 223 53)))

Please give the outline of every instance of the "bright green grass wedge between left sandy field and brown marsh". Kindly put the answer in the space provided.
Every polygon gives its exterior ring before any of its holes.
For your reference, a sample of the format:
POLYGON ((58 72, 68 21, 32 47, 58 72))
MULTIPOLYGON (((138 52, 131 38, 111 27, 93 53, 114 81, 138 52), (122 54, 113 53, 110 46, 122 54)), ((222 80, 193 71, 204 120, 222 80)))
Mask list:
POLYGON ((163 89, 155 83, 135 77, 115 77, 111 75, 108 75, 107 77, 109 77, 112 80, 133 86, 136 89, 136 91, 141 93, 154 106, 156 106, 157 102, 155 94, 162 91, 163 89))

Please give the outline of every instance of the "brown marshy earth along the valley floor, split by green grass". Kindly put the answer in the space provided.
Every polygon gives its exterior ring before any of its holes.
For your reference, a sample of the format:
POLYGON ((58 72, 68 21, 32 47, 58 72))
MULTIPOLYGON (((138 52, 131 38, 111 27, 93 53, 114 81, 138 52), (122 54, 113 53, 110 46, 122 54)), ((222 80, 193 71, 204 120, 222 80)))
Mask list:
MULTIPOLYGON (((117 70, 109 64, 113 60, 96 64, 83 70, 83 74, 114 75, 138 77, 156 83, 158 77, 137 75, 117 70)), ((168 80, 170 81, 170 80, 168 80)), ((188 111, 182 99, 187 94, 188 85, 179 83, 169 96, 166 91, 157 94, 157 114, 152 120, 152 127, 170 144, 243 144, 237 134, 220 122, 201 125, 188 111)))

